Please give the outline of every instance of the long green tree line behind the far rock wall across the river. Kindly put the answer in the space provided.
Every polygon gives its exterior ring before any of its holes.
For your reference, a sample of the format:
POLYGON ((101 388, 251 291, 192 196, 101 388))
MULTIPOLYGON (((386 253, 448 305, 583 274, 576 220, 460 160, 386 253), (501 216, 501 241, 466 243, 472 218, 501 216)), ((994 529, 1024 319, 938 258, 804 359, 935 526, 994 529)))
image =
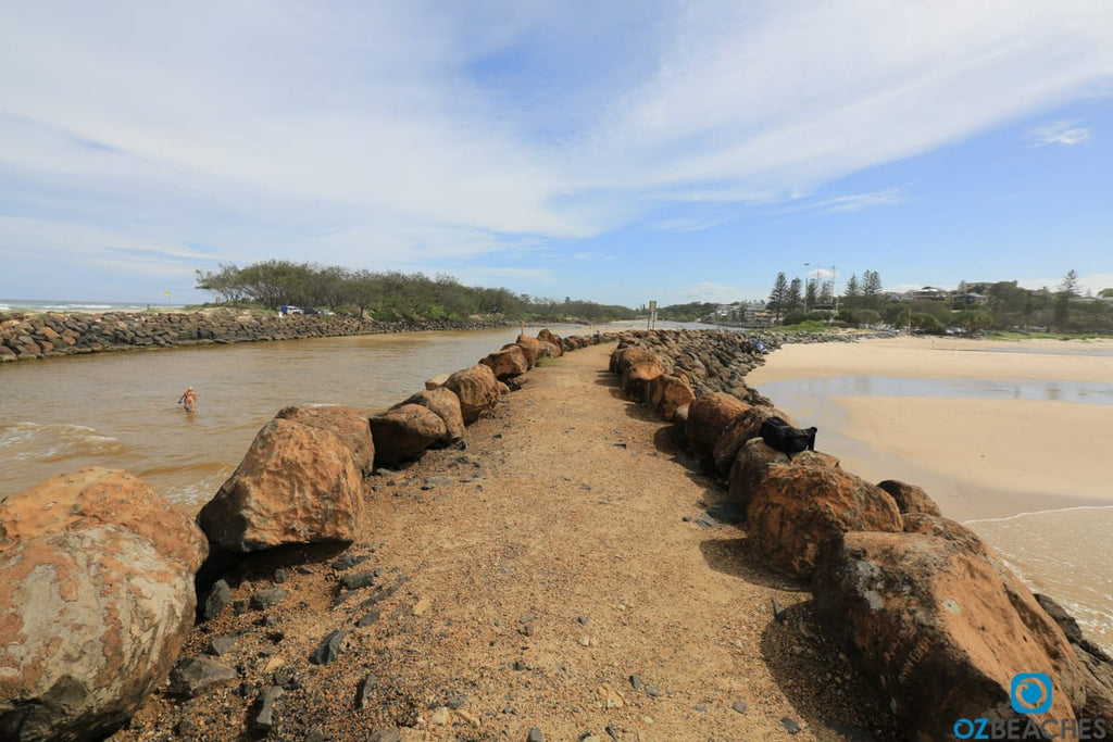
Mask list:
POLYGON ((421 273, 351 270, 338 266, 267 260, 246 267, 220 265, 196 270, 197 288, 223 303, 277 309, 280 306, 347 310, 383 321, 500 316, 511 320, 633 319, 629 307, 563 301, 513 294, 505 288, 463 286, 454 277, 421 273))

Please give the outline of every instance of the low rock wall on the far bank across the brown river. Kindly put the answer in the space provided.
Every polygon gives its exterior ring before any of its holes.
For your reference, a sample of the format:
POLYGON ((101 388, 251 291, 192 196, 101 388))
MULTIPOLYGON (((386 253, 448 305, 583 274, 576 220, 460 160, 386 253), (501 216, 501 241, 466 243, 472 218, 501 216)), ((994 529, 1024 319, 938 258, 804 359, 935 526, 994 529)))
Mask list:
POLYGON ((294 340, 444 329, 486 329, 516 323, 376 321, 351 315, 290 315, 204 309, 105 314, 0 314, 0 363, 53 356, 190 345, 294 340))

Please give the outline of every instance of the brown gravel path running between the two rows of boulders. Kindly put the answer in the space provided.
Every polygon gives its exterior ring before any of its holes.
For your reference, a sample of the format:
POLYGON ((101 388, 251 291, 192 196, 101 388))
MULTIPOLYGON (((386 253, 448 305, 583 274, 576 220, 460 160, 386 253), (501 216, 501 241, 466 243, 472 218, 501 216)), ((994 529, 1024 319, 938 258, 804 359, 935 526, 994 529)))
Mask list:
MULTIPOLYGON (((469 428, 466 451, 372 479, 372 525, 351 553, 370 556, 354 571, 400 585, 377 622, 353 627, 357 601, 331 607, 329 555, 282 584, 284 605, 304 607, 272 621, 277 643, 253 629, 260 612, 225 611, 188 649, 246 629, 221 662, 242 660, 260 685, 276 669, 301 673, 278 704, 279 739, 366 740, 392 724, 410 728, 403 740, 522 741, 532 728, 550 742, 827 740, 847 726, 885 739, 892 721, 817 627, 806 587, 752 562, 736 525, 698 523, 719 493, 683 465, 669 426, 621 398, 612 347, 531 372, 469 428), (309 666, 336 629, 351 631, 347 649, 309 666), (368 674, 372 702, 355 711, 368 674), (436 711, 452 698, 459 711, 436 711)), ((256 565, 236 597, 272 586, 273 571, 256 565)), ((235 703, 228 693, 184 710, 156 700, 115 739, 159 739, 183 715, 220 739, 232 728, 211 710, 235 703)))

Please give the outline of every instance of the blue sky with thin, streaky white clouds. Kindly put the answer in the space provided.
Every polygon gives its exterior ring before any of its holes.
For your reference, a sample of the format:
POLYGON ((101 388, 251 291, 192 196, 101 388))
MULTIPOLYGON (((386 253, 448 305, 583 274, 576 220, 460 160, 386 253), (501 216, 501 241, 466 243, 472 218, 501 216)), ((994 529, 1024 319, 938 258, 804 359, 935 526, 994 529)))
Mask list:
POLYGON ((1113 287, 1113 3, 0 3, 0 297, 269 259, 627 306, 1113 287))

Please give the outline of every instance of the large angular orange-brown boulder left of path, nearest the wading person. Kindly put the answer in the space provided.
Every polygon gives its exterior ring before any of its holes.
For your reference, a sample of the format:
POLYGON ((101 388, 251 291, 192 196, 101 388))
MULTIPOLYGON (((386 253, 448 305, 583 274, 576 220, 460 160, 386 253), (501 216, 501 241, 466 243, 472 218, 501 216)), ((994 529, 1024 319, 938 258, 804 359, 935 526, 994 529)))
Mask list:
POLYGON ((335 433, 275 418, 197 517, 232 552, 351 542, 364 517, 362 478, 335 433))

